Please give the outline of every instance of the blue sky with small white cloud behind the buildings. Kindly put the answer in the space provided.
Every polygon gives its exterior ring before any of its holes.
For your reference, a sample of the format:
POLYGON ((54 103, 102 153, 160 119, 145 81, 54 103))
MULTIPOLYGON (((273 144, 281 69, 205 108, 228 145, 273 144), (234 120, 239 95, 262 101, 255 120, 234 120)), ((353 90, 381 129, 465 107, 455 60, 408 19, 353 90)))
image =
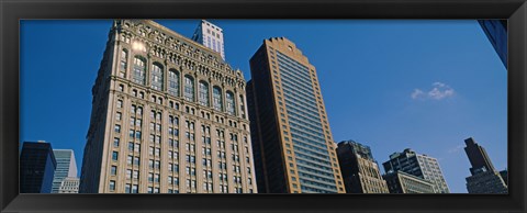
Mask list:
MULTIPOLYGON (((199 23, 157 21, 188 37, 199 23)), ((507 72, 476 21, 209 21, 247 80, 265 38, 294 42, 317 69, 334 138, 369 145, 379 164, 413 148, 439 159, 450 191, 466 193, 463 139, 474 137, 506 168, 507 72)), ((79 170, 111 24, 21 22, 21 142, 71 148, 79 170)))

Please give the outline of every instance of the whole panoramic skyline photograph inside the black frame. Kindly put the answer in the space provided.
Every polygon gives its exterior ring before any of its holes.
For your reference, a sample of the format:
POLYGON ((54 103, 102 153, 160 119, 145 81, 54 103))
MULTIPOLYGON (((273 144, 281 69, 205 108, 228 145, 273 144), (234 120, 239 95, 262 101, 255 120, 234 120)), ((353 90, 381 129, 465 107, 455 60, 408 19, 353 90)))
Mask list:
POLYGON ((20 35, 20 193, 508 193, 506 20, 20 35))

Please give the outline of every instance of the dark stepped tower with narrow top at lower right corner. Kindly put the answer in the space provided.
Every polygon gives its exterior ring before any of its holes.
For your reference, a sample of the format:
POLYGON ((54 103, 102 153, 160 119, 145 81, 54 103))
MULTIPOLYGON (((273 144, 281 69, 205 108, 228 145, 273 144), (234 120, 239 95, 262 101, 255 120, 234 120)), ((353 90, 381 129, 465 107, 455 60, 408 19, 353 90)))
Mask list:
POLYGON ((485 148, 478 145, 472 137, 464 139, 464 152, 472 166, 472 176, 466 178, 469 193, 507 193, 507 183, 502 178, 505 173, 494 169, 485 148))

